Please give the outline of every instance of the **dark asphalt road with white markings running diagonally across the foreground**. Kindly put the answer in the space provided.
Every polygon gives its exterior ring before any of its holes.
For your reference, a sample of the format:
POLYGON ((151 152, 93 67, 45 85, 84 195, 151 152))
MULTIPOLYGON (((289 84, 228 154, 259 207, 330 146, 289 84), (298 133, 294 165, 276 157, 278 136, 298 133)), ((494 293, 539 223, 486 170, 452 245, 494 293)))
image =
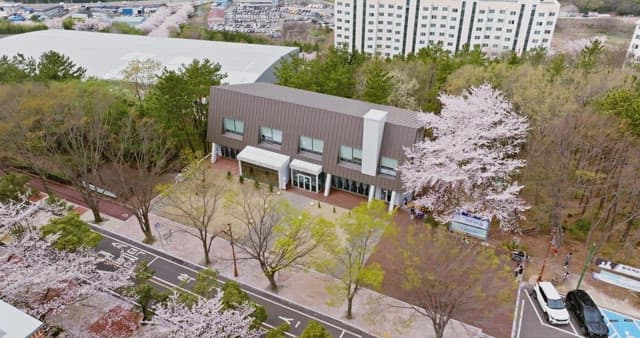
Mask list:
MULTIPOLYGON (((97 248, 101 256, 108 257, 129 267, 134 267, 138 261, 144 259, 149 262, 149 266, 155 270, 154 280, 168 287, 178 287, 178 284, 183 285, 183 283, 186 283, 185 287, 187 289, 190 288, 198 271, 204 268, 124 238, 99 226, 91 226, 95 231, 103 235, 103 240, 97 248)), ((224 283, 228 279, 219 277, 219 280, 220 283, 224 283)), ((329 333, 336 338, 373 337, 336 319, 293 304, 273 294, 247 285, 241 284, 241 286, 253 301, 266 308, 269 315, 266 321, 268 326, 277 326, 283 321, 289 322, 291 328, 288 335, 291 337, 299 335, 309 320, 320 322, 327 328, 329 333)))

